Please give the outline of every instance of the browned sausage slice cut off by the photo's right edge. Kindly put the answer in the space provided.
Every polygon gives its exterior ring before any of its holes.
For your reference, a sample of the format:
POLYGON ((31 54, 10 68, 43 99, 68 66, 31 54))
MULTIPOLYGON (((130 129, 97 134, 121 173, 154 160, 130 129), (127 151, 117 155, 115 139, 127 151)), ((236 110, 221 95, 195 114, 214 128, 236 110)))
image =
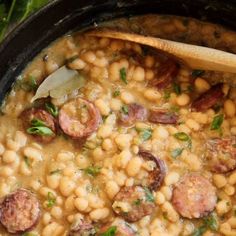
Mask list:
POLYGON ((226 173, 234 170, 236 168, 236 137, 209 140, 206 156, 211 171, 226 173))

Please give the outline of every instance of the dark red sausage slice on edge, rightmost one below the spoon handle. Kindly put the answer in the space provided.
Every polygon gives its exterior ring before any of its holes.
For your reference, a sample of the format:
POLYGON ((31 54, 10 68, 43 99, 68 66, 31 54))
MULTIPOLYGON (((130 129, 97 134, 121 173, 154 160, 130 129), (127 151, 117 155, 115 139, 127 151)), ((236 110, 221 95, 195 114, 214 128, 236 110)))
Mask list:
POLYGON ((216 105, 224 96, 222 86, 222 83, 212 86, 192 103, 192 108, 197 111, 206 111, 216 105))

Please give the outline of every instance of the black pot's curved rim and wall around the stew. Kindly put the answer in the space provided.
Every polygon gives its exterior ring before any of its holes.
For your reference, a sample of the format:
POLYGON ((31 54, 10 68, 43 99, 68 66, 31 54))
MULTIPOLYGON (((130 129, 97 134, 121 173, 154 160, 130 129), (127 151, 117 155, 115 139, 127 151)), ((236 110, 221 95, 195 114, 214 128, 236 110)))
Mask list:
POLYGON ((194 17, 236 30, 235 0, 54 0, 0 45, 0 101, 25 65, 56 38, 96 22, 145 13, 194 17))

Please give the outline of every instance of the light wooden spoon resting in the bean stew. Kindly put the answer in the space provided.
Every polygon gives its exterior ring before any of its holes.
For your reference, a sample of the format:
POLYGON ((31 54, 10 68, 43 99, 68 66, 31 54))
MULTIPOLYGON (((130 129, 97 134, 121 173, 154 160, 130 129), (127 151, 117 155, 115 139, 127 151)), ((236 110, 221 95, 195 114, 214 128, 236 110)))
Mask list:
POLYGON ((236 55, 221 50, 126 33, 109 28, 97 28, 96 30, 88 31, 87 34, 90 36, 127 40, 157 48, 174 55, 192 69, 236 73, 236 55))

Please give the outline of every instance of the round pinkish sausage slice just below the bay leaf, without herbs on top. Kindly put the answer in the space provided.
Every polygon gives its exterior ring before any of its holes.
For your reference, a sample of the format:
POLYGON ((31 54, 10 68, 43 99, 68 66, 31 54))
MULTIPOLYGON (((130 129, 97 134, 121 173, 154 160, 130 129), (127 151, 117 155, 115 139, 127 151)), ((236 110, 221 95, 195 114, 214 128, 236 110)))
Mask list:
POLYGON ((59 111, 63 132, 74 139, 88 137, 97 130, 101 116, 92 102, 76 98, 64 104, 59 111))

